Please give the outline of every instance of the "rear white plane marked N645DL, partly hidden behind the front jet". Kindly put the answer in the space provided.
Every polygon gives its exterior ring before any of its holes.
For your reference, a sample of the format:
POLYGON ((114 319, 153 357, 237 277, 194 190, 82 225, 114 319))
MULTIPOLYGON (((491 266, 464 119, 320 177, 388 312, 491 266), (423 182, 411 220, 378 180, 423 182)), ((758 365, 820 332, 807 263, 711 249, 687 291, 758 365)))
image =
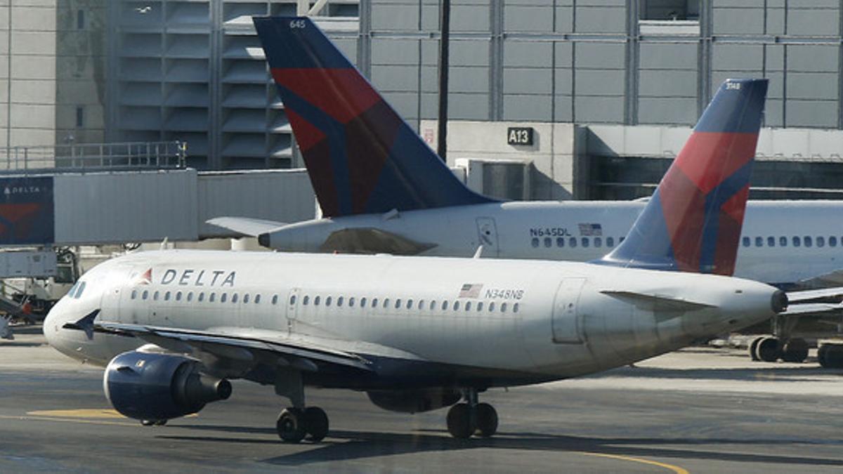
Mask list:
MULTIPOLYGON (((266 35, 261 40, 271 49, 266 35)), ((319 41, 323 58, 341 57, 330 40, 319 41)), ((298 61, 297 51, 284 54, 298 61)), ((254 235, 261 245, 421 256, 472 256, 482 245, 484 257, 591 261, 620 244, 644 209, 645 202, 499 202, 478 195, 353 67, 277 73, 278 55, 266 57, 325 218, 287 225, 208 221, 254 235)), ((829 216, 841 212, 840 201, 749 202, 735 276, 786 290, 840 285, 843 222, 829 216)), ((750 353, 802 361, 808 356, 802 337, 834 333, 830 322, 777 318, 776 337, 757 340, 750 353)), ((830 345, 822 355, 829 351, 833 357, 821 363, 843 367, 843 346, 830 345)))

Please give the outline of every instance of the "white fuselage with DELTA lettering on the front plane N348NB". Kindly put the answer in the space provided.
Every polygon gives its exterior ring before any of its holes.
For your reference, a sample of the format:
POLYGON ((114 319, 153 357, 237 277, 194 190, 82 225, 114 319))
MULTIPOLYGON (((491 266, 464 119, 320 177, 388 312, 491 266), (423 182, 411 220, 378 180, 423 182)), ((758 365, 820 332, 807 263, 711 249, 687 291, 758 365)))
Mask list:
MULTIPOLYGON (((143 342, 62 329, 93 310, 123 325, 306 338, 373 367, 354 378, 306 373, 311 385, 518 385, 764 320, 774 294, 748 280, 588 263, 164 250, 95 267, 44 330, 62 353, 101 365, 143 342)), ((260 370, 246 378, 272 382, 260 370)))

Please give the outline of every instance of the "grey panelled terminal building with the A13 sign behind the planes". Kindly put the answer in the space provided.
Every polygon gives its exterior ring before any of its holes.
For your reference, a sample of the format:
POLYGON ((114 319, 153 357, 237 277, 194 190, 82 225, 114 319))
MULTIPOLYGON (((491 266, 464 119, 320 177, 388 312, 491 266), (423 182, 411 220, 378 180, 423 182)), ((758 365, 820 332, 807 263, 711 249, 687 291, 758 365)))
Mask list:
MULTIPOLYGON (((757 197, 836 196, 839 2, 451 4, 448 159, 475 188, 647 194, 724 78, 765 77, 757 197)), ((180 140, 199 170, 298 167, 250 22, 296 12, 295 0, 0 2, 0 148, 180 140)), ((429 143, 439 15, 437 0, 330 0, 317 15, 429 143)))

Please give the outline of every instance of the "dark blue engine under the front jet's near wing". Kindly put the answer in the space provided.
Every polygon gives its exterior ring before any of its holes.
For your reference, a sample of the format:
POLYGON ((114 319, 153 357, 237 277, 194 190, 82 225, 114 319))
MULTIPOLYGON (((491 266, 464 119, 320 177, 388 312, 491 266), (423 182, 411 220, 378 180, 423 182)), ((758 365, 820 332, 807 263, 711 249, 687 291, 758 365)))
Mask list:
POLYGON ((228 380, 201 374, 199 368, 196 360, 177 355, 121 353, 105 368, 105 397, 126 417, 166 420, 231 396, 228 380))

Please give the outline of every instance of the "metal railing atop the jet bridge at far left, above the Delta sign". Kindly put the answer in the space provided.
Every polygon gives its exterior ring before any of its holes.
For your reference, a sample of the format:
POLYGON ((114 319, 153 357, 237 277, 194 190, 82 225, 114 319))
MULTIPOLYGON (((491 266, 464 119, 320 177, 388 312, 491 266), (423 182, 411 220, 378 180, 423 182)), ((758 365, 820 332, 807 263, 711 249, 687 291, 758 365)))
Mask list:
POLYGON ((184 168, 185 142, 79 143, 0 148, 0 173, 184 168))

